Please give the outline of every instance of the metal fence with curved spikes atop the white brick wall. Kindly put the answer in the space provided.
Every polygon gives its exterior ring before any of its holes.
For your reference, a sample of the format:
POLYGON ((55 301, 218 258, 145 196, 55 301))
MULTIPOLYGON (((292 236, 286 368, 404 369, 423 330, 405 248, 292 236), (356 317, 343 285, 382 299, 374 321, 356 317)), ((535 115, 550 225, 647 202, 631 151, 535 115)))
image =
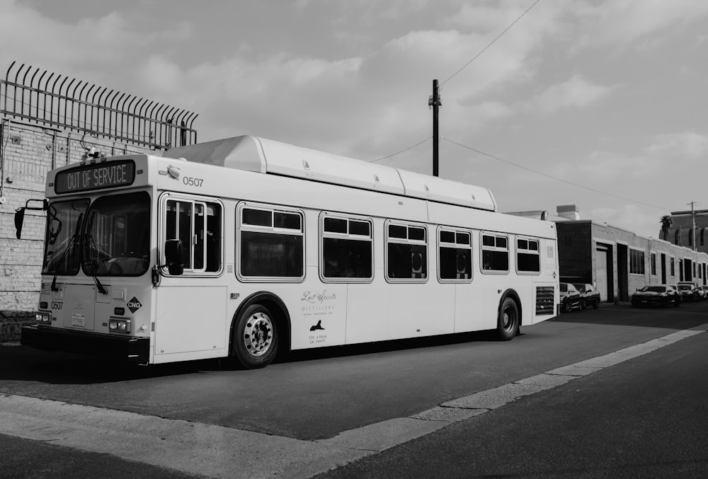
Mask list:
POLYGON ((155 149, 197 142, 193 112, 15 64, 0 79, 4 115, 155 149))

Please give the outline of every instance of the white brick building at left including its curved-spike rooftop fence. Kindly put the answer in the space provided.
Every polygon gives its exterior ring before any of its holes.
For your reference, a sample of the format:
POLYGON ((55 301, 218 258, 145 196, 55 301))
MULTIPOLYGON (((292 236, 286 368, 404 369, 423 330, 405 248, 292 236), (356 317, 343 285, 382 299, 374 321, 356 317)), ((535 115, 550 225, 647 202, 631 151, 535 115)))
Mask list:
POLYGON ((115 90, 105 95, 108 88, 14 65, 0 79, 0 342, 18 339, 34 322, 45 213, 28 210, 21 239, 13 217, 28 200, 42 204, 47 172, 92 150, 160 154, 197 141, 196 116, 187 110, 115 90), (32 83, 35 76, 40 80, 32 83))

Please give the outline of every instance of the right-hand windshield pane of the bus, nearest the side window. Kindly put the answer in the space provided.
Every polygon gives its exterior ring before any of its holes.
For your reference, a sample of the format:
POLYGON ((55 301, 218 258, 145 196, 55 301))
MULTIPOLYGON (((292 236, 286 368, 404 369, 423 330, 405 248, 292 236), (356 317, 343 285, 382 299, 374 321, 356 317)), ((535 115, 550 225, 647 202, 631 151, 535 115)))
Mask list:
POLYGON ((98 198, 84 219, 82 262, 89 276, 139 276, 150 262, 147 192, 98 198))

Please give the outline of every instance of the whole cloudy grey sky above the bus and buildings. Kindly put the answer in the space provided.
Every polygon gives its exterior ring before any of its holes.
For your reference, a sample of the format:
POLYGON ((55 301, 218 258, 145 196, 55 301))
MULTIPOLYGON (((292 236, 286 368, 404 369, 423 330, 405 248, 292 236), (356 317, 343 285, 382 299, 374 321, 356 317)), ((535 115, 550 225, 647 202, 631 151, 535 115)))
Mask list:
POLYGON ((426 174, 437 79, 441 178, 656 238, 708 209, 705 25, 705 0, 0 0, 0 69, 426 174))

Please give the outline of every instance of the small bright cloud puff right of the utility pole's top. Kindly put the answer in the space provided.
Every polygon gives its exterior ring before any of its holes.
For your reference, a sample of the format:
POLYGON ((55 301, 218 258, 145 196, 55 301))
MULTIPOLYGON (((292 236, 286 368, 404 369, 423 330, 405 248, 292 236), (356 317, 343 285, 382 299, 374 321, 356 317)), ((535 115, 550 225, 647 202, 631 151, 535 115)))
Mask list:
POLYGON ((612 87, 586 81, 581 75, 573 75, 564 83, 549 86, 535 96, 531 108, 552 113, 562 108, 586 108, 597 103, 612 91, 612 87))

